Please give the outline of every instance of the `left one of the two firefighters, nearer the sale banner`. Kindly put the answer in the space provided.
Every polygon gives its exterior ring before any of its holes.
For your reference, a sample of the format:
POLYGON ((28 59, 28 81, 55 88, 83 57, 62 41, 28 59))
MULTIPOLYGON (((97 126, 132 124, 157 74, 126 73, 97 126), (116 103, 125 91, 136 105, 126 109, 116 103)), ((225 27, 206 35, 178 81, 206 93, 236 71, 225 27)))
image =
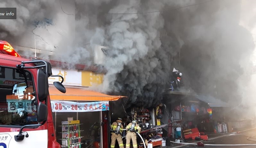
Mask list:
POLYGON ((119 144, 119 148, 123 147, 123 140, 122 140, 122 131, 123 131, 123 125, 122 125, 122 119, 118 118, 116 122, 113 122, 111 125, 111 144, 110 147, 114 148, 116 145, 116 140, 119 144))

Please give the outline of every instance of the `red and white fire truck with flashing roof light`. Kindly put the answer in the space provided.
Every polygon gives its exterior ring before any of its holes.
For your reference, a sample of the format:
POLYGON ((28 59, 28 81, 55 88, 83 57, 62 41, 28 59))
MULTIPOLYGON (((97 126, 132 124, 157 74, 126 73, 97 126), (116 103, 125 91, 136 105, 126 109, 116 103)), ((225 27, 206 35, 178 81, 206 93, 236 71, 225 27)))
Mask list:
MULTIPOLYGON (((0 147, 61 148, 56 142, 48 77, 50 63, 21 58, 0 40, 0 147)), ((62 82, 53 85, 66 93, 62 82)))

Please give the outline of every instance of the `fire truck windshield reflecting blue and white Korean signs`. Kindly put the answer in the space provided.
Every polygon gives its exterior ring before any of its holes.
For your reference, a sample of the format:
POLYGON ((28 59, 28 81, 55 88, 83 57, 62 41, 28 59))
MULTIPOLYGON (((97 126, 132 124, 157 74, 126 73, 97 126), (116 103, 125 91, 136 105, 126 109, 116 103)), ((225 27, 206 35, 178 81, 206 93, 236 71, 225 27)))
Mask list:
POLYGON ((38 124, 33 91, 29 72, 0 67, 0 126, 38 124))

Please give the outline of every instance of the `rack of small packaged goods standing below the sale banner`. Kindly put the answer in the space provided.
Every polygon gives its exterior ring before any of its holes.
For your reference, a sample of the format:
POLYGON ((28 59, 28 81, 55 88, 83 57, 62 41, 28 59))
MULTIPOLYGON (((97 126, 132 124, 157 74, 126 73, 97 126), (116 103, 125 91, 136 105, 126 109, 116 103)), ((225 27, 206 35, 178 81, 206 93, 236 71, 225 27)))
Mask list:
POLYGON ((61 148, 81 148, 80 121, 62 121, 61 148))

